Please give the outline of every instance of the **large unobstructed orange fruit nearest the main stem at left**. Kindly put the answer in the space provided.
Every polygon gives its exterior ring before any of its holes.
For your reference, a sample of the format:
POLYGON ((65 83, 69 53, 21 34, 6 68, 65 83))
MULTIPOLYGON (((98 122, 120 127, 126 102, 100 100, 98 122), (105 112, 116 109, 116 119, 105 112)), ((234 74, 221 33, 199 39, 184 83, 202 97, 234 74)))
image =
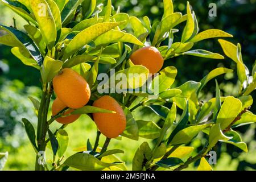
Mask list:
POLYGON ((72 109, 83 107, 90 100, 88 83, 70 68, 53 78, 53 89, 59 100, 72 109))

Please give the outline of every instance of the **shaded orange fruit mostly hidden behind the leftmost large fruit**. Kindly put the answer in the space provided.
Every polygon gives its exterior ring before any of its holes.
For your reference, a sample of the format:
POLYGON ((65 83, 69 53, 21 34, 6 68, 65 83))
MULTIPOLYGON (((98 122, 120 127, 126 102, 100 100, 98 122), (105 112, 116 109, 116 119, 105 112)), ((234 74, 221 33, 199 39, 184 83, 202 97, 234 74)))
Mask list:
MULTIPOLYGON (((59 98, 56 98, 52 103, 52 115, 58 114, 59 111, 63 110, 65 107, 67 107, 67 106, 65 104, 63 104, 63 102, 61 102, 59 100, 59 98)), ((72 111, 73 111, 73 109, 69 109, 68 111, 66 111, 64 113, 64 115, 67 115, 67 114, 71 113, 72 111)), ((76 121, 79 117, 80 117, 80 114, 72 114, 67 117, 57 118, 56 121, 63 125, 66 125, 66 124, 76 121)))

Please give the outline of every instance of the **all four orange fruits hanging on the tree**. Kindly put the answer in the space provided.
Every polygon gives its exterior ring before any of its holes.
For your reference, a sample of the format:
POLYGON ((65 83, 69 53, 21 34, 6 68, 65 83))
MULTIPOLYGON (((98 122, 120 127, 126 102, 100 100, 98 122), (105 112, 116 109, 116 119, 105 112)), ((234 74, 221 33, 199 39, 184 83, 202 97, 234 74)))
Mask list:
MULTIPOLYGON (((134 64, 146 67, 150 73, 157 73, 163 66, 163 57, 155 47, 138 49, 130 59, 134 64)), ((75 122, 80 115, 71 114, 72 111, 85 106, 90 100, 88 82, 73 69, 64 68, 53 78, 53 89, 57 97, 52 104, 52 115, 68 107, 63 117, 57 118, 56 121, 64 125, 75 122)), ((115 112, 93 113, 94 122, 102 134, 108 138, 116 138, 123 133, 126 128, 126 116, 114 98, 102 96, 94 101, 93 106, 115 112)))

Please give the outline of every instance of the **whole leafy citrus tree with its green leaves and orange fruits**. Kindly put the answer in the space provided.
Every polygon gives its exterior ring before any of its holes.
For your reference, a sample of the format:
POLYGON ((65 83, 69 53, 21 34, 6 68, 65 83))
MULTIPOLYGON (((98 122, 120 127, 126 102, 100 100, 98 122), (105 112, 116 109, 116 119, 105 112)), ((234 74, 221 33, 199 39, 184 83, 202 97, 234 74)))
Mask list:
MULTIPOLYGON (((221 96, 216 80, 214 97, 201 101, 204 86, 217 76, 233 72, 228 68, 213 68, 199 82, 172 86, 179 71, 166 67, 166 61, 183 55, 225 59, 220 53, 193 47, 205 39, 232 38, 216 29, 199 32, 189 3, 187 14, 183 15, 174 13, 171 0, 164 0, 162 20, 154 24, 147 16, 140 20, 115 10, 111 0, 2 3, 27 20, 27 24, 26 32, 17 30, 15 23, 0 24, 6 32, 0 43, 13 47, 11 52, 41 75, 42 97, 29 97, 38 116, 37 128, 28 119, 22 119, 35 150, 36 170, 125 170, 125 164, 115 156, 124 152, 134 154, 133 170, 181 170, 197 160, 199 170, 211 170, 205 156, 217 142, 233 144, 247 152, 236 127, 256 121, 249 111, 253 104, 250 93, 256 87, 256 67, 250 72, 243 64, 239 43, 218 40, 227 59, 237 65, 237 97, 221 96), (183 30, 176 29, 182 22, 183 30), (182 32, 180 38, 175 36, 178 31, 182 32), (152 113, 155 117, 146 119, 152 113), (97 125, 94 145, 90 143, 93 139, 88 139, 86 151, 81 149, 64 157, 69 141, 65 127, 76 125, 73 122, 81 114, 88 114, 97 125), (137 115, 141 119, 135 119, 137 115), (53 131, 53 122, 63 125, 53 131), (207 142, 195 154, 189 145, 200 132, 207 142), (101 147, 98 141, 102 135, 106 140, 101 147), (108 150, 110 139, 122 142, 122 137, 151 139, 152 144, 143 142, 137 151, 108 150), (50 162, 44 160, 48 144, 53 154, 50 162)), ((2 156, 6 161, 7 155, 2 156)))

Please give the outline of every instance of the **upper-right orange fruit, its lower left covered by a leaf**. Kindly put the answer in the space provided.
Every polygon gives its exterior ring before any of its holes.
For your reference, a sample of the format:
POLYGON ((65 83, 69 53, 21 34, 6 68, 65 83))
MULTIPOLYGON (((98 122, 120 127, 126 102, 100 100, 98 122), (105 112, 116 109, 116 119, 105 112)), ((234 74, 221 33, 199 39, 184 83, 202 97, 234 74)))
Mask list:
POLYGON ((130 56, 135 65, 143 65, 150 73, 158 73, 163 67, 164 59, 157 48, 148 46, 138 49, 130 56))

